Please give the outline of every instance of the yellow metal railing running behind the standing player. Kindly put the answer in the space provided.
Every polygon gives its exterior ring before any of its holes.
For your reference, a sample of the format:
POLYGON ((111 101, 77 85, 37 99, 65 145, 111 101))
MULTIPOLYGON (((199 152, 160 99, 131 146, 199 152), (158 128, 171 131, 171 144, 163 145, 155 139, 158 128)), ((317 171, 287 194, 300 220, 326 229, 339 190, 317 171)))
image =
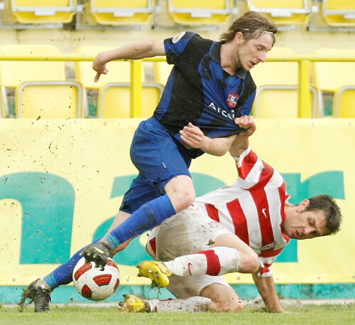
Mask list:
MULTIPOLYGON (((18 61, 92 61, 91 55, 67 53, 62 55, 1 55, 0 60, 18 61)), ((131 62, 131 117, 141 117, 142 100, 142 62, 165 61, 165 56, 129 60, 131 62)), ((298 117, 311 118, 312 104, 310 97, 310 63, 311 62, 355 62, 355 56, 344 55, 270 55, 267 62, 298 63, 298 117)), ((93 73, 94 78, 94 73, 93 73)))

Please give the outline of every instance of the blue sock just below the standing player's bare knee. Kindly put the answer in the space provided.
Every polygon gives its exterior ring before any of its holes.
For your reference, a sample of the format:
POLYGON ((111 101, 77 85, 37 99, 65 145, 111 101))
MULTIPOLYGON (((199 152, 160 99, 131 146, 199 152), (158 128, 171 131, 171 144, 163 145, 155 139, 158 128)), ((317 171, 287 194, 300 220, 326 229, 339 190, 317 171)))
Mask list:
POLYGON ((175 213, 176 211, 168 194, 159 196, 148 203, 144 203, 124 223, 121 223, 121 225, 106 235, 104 240, 107 240, 114 247, 118 247, 119 244, 124 243, 126 240, 144 233, 155 225, 159 225, 166 218, 175 215, 175 213))

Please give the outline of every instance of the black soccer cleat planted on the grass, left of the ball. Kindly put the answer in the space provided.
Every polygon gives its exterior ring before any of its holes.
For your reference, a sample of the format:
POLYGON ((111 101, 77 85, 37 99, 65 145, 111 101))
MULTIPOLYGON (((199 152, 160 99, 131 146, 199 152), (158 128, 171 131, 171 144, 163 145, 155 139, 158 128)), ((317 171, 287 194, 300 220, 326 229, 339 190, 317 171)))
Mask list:
POLYGON ((36 287, 38 279, 33 281, 26 289, 23 290, 21 301, 18 302, 18 311, 23 311, 23 309, 33 302, 35 304, 36 313, 49 313, 49 302, 50 302, 50 290, 43 289, 41 287, 36 287), (26 303, 26 300, 29 302, 26 303))

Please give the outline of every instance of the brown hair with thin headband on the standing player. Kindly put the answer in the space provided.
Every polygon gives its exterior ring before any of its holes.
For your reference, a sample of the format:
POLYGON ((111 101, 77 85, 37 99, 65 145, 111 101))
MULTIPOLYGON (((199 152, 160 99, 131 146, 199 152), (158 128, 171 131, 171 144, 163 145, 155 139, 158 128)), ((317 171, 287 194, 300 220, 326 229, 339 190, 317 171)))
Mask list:
POLYGON ((229 30, 226 33, 222 33, 220 40, 228 43, 233 40, 236 33, 241 32, 244 40, 249 41, 260 37, 262 33, 268 32, 273 36, 273 43, 275 43, 274 34, 277 31, 278 26, 273 21, 268 20, 268 18, 256 11, 248 11, 243 16, 236 18, 229 30))

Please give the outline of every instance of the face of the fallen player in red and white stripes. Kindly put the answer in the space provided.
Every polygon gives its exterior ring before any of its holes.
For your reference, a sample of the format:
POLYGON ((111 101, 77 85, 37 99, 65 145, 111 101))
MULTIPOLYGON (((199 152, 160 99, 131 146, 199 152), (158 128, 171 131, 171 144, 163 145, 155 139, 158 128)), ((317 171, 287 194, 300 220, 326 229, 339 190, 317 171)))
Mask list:
POLYGON ((327 223, 324 211, 305 211, 305 206, 289 215, 284 223, 288 237, 295 239, 315 238, 327 233, 327 223))

